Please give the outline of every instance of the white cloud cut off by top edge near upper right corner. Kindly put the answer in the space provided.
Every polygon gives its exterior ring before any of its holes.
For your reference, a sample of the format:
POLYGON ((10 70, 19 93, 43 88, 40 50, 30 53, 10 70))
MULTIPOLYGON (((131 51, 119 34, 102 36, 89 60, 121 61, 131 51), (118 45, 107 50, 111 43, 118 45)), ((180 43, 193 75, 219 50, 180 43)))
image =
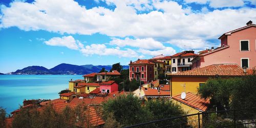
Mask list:
POLYGON ((222 8, 222 7, 241 7, 244 5, 243 0, 212 0, 210 5, 213 8, 222 8))

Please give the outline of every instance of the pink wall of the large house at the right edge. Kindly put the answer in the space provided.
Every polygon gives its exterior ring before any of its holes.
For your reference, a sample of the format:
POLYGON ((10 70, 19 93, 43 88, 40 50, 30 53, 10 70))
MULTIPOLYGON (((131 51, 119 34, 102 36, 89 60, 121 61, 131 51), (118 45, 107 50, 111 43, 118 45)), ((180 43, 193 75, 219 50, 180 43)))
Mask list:
POLYGON ((241 67, 241 58, 249 58, 249 68, 252 69, 256 66, 255 33, 256 27, 251 27, 228 35, 227 45, 229 48, 205 55, 201 60, 201 67, 218 63, 237 63, 241 67), (240 51, 240 40, 249 40, 249 51, 240 51))

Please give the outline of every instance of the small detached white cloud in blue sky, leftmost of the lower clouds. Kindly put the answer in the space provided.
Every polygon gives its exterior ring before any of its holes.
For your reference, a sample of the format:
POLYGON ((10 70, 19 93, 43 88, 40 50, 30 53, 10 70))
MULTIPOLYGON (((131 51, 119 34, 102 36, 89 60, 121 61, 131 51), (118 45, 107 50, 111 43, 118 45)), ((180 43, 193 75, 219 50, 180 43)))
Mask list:
POLYGON ((50 40, 44 42, 49 46, 65 46, 69 49, 78 50, 77 42, 72 36, 63 36, 61 38, 53 37, 50 40))

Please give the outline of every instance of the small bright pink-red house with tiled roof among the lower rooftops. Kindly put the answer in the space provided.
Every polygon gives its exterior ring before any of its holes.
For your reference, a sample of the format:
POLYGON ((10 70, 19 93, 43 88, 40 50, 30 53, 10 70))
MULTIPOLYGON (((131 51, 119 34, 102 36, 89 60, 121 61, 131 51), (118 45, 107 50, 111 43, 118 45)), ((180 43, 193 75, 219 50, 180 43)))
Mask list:
POLYGON ((104 81, 99 85, 99 90, 101 93, 112 93, 114 91, 118 91, 118 84, 115 81, 104 81))

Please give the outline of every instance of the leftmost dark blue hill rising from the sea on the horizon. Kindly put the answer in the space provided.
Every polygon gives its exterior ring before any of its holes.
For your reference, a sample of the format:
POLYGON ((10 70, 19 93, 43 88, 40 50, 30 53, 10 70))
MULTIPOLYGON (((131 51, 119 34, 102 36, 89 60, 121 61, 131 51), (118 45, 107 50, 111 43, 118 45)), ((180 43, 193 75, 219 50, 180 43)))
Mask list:
POLYGON ((17 70, 15 72, 12 72, 11 74, 56 74, 53 71, 50 71, 49 69, 42 67, 42 66, 29 66, 27 68, 24 68, 22 70, 17 70))

